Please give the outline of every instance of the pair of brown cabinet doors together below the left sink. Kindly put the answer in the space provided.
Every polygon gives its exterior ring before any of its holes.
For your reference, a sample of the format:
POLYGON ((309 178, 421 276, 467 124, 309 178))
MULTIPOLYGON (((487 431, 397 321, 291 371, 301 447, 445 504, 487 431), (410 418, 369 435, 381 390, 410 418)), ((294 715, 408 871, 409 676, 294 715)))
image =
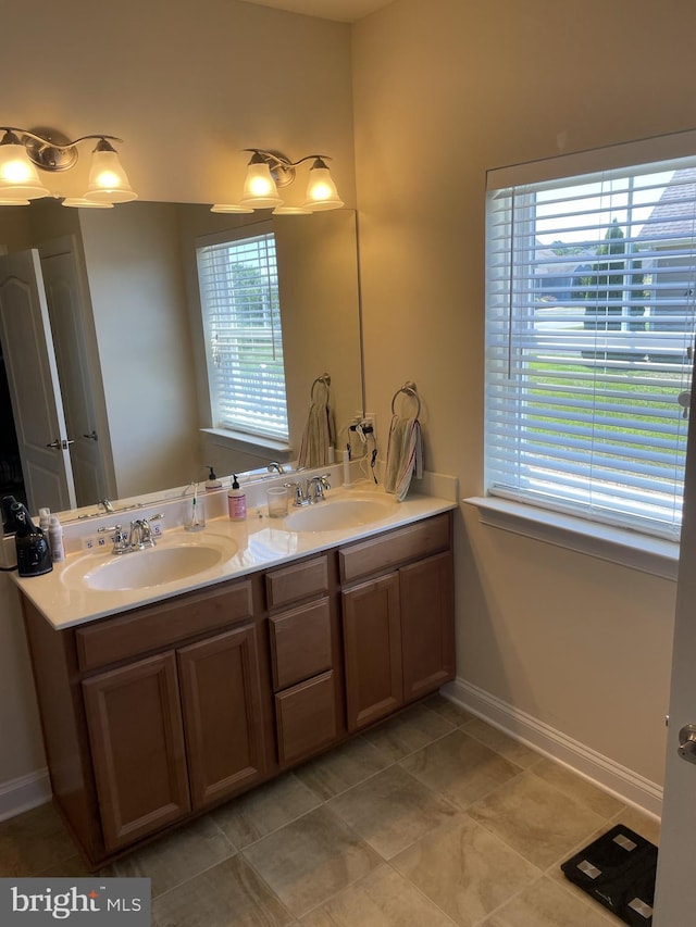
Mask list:
POLYGON ((253 625, 100 673, 83 692, 108 850, 263 778, 253 625))

